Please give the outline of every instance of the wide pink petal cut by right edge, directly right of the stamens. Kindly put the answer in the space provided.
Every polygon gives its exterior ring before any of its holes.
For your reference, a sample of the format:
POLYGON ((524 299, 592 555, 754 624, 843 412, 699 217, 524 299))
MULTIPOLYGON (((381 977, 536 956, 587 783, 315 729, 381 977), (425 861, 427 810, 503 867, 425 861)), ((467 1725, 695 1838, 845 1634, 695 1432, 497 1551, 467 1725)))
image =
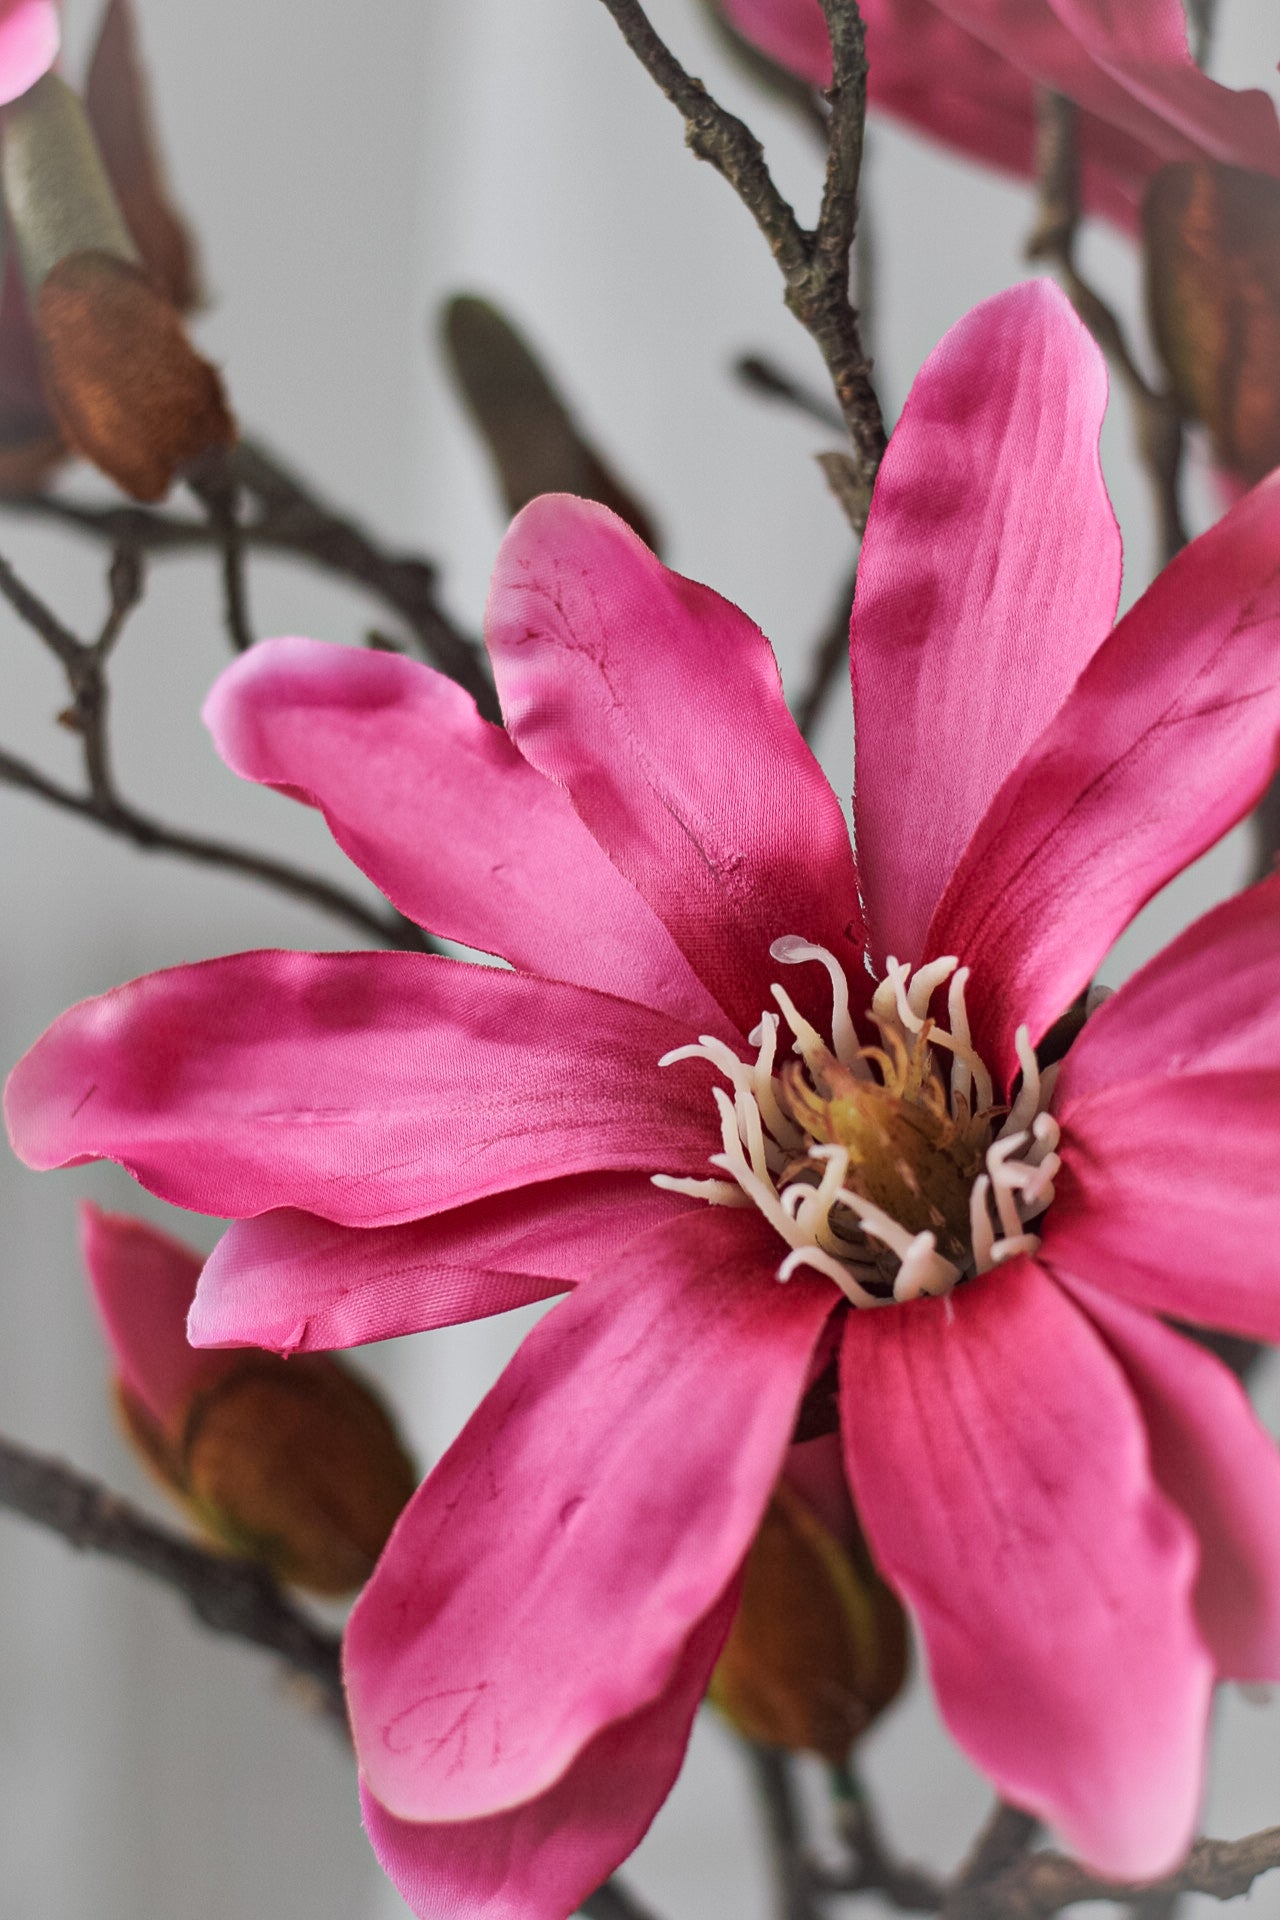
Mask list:
POLYGON ((1126 1081, 1063 1114, 1044 1258, 1134 1306, 1280 1340, 1280 1071, 1126 1081))

